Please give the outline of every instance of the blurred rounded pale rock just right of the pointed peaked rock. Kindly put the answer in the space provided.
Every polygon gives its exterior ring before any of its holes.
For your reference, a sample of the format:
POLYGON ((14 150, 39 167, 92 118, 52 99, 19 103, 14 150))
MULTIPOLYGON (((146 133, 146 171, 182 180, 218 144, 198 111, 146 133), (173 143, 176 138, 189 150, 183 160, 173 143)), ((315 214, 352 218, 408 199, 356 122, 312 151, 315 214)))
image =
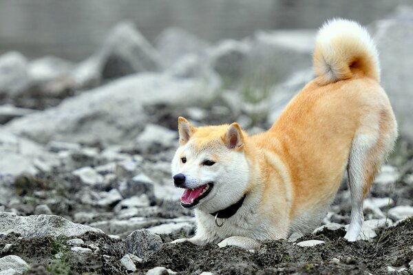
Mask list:
POLYGON ((209 43, 180 28, 167 28, 156 38, 155 47, 162 62, 169 67, 183 56, 204 54, 209 43))

